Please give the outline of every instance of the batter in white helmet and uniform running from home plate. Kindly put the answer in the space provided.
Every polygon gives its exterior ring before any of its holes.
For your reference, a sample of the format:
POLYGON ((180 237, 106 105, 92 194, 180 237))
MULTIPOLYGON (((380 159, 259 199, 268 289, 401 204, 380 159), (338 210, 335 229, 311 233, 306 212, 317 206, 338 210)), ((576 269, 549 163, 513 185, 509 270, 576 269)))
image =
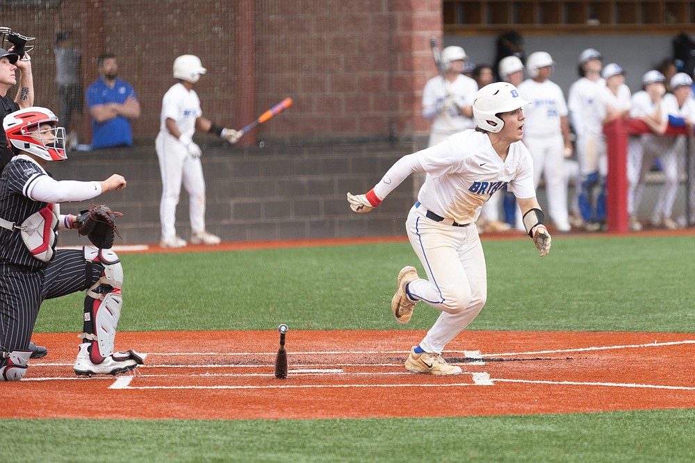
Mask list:
POLYGON ((490 196, 509 185, 534 245, 541 256, 550 251, 531 155, 521 142, 522 108, 529 102, 514 85, 499 82, 478 90, 472 103, 475 129, 403 156, 366 194, 347 193, 354 212, 370 212, 410 174, 426 174, 406 229, 427 278, 420 278, 414 267, 403 267, 391 301, 393 317, 401 324, 410 321, 418 301, 441 312, 425 338, 411 348, 405 368, 414 373, 461 373, 441 353, 486 302, 485 256, 475 221, 490 196))

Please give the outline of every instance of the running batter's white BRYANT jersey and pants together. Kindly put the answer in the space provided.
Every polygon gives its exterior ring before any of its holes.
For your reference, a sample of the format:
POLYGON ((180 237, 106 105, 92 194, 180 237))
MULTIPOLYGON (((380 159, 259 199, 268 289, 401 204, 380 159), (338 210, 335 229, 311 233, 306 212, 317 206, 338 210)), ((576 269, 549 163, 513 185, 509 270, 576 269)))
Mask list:
POLYGON ((400 158, 374 187, 375 194, 385 198, 416 172, 427 175, 406 226, 429 279, 414 280, 409 293, 441 311, 420 342, 425 351, 441 353, 486 302, 485 256, 475 226, 480 209, 507 185, 518 198, 534 197, 533 165, 522 142, 509 146, 502 161, 486 133, 468 130, 400 158))

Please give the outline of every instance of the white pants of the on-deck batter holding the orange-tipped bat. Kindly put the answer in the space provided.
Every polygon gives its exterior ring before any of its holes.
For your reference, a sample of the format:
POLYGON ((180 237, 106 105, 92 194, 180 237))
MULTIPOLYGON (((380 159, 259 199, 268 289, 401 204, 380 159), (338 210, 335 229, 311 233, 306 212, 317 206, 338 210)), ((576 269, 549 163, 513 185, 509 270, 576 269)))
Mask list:
POLYGON ((162 175, 162 199, 159 218, 162 237, 176 236, 176 207, 181 196, 181 184, 189 196, 188 214, 191 233, 205 230, 205 179, 200 158, 192 158, 186 146, 170 135, 160 133, 156 139, 159 170, 162 175))

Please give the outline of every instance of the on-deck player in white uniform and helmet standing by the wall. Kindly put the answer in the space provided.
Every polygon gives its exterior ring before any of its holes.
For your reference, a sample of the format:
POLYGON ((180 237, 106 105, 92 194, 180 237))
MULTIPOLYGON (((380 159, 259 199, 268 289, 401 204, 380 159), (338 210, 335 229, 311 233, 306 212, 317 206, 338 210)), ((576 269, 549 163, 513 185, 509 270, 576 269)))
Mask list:
POLYGON ((163 248, 186 246, 186 241, 176 234, 175 228, 181 182, 190 198, 190 242, 220 244, 220 237, 205 229, 205 179, 200 162, 202 151, 193 142, 193 134, 196 130, 214 133, 234 144, 242 133, 213 124, 210 119, 203 117, 200 100, 193 87, 206 71, 197 56, 179 56, 174 60, 174 78, 177 83, 167 90, 162 100, 156 151, 163 185, 159 208, 162 225, 159 244, 163 248))

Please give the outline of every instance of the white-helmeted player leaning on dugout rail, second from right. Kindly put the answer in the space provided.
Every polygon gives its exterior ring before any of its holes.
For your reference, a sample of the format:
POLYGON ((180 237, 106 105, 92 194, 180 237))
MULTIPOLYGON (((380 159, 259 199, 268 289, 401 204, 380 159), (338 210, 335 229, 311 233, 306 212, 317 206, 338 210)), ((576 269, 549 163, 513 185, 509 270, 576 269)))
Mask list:
MULTIPOLYGON (((667 125, 668 119, 662 115, 661 109, 662 97, 666 93, 665 81, 664 74, 652 69, 642 76, 642 90, 632 94, 630 117, 644 121, 654 133, 663 133, 667 125)), ((639 205, 637 186, 639 185, 644 151, 650 152, 648 157, 651 162, 653 160, 651 153, 658 150, 657 135, 654 133, 632 136, 628 142, 628 214, 630 215, 630 230, 632 231, 642 229, 642 224, 637 218, 637 206, 639 205)), ((639 194, 641 196, 641 192, 639 194)))

